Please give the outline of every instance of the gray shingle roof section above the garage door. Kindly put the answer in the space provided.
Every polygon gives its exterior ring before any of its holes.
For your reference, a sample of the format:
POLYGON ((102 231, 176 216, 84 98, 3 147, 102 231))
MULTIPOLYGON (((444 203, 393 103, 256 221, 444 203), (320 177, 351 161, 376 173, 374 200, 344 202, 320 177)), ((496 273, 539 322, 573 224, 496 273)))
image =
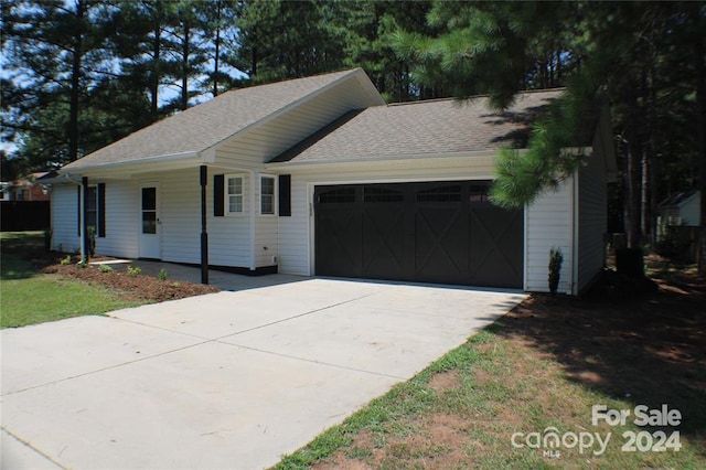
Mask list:
POLYGON ((504 111, 486 97, 351 111, 270 162, 324 162, 524 148, 530 122, 563 90, 526 92, 504 111))

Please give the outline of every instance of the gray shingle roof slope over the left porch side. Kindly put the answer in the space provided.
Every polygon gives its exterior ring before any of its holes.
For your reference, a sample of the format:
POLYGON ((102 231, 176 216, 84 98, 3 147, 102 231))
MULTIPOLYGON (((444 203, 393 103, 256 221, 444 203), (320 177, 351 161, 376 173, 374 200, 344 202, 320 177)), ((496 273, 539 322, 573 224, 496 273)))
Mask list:
POLYGON ((79 170, 98 164, 201 152, 355 72, 343 71, 227 92, 140 129, 64 168, 79 170))

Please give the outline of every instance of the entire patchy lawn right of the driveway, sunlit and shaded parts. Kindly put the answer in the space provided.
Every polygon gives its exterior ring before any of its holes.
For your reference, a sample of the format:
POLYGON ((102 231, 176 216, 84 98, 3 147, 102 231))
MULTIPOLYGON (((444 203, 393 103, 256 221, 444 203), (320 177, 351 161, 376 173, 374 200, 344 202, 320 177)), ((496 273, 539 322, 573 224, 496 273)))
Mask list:
POLYGON ((706 284, 692 271, 634 301, 530 299, 275 469, 706 469, 706 284), (630 415, 593 423, 601 405, 630 415), (681 423, 638 423, 638 406, 665 405, 681 423))

